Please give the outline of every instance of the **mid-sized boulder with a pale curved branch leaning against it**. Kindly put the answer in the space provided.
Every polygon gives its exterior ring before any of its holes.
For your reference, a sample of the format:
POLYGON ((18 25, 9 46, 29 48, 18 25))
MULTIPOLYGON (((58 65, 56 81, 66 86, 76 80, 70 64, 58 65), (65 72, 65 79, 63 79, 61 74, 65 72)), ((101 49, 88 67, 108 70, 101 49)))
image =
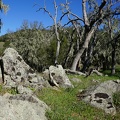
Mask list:
POLYGON ((73 88, 65 70, 61 65, 50 66, 43 72, 43 78, 48 80, 51 85, 62 88, 73 88))

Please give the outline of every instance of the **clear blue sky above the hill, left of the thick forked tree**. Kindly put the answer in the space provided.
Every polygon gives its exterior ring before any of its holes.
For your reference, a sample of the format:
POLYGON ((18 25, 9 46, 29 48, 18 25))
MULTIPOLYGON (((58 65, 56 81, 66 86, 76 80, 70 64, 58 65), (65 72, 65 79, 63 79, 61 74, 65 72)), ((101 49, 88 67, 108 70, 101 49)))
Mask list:
MULTIPOLYGON (((65 3, 66 0, 56 0, 57 4, 65 3)), ((73 13, 81 15, 81 0, 70 1, 70 8, 73 13)), ((4 4, 9 5, 9 10, 6 14, 0 12, 2 19, 1 35, 8 31, 15 32, 20 28, 24 20, 29 23, 38 21, 42 22, 44 27, 53 25, 52 19, 43 11, 36 12, 40 7, 44 6, 44 0, 3 0, 4 4), (36 4, 36 5, 35 5, 36 4)), ((46 8, 54 15, 53 0, 46 0, 46 8)), ((58 17, 61 16, 58 13, 58 17)), ((63 22, 67 22, 63 19, 63 22)))

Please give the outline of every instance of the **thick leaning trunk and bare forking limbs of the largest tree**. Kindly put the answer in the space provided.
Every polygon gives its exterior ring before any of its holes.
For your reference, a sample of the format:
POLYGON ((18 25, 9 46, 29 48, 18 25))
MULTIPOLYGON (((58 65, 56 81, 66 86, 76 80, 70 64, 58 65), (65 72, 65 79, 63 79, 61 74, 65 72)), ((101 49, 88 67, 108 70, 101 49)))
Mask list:
MULTIPOLYGON (((66 2, 67 2, 67 0, 66 0, 66 2)), ((70 11, 69 7, 67 6, 68 5, 67 3, 62 5, 66 9, 66 12, 63 14, 62 18, 67 14, 74 16, 74 19, 69 20, 69 22, 67 24, 72 23, 73 21, 80 21, 80 22, 82 22, 82 25, 84 24, 83 25, 84 34, 82 36, 83 44, 80 47, 80 49, 77 51, 77 53, 74 57, 74 60, 73 60, 72 66, 71 66, 71 70, 74 70, 74 71, 76 70, 77 64, 78 64, 81 56, 83 55, 84 51, 88 49, 88 45, 90 43, 90 40, 91 40, 94 32, 96 31, 98 26, 101 25, 103 20, 106 19, 107 17, 109 17, 111 14, 112 15, 119 14, 119 12, 117 12, 117 11, 110 12, 110 11, 106 10, 105 6, 109 5, 109 3, 107 3, 107 2, 108 2, 107 0, 103 0, 99 6, 96 4, 96 6, 94 7, 95 9, 94 9, 93 13, 91 13, 91 15, 88 15, 87 8, 86 8, 87 1, 82 0, 83 18, 80 18, 76 14, 73 14, 70 11)))

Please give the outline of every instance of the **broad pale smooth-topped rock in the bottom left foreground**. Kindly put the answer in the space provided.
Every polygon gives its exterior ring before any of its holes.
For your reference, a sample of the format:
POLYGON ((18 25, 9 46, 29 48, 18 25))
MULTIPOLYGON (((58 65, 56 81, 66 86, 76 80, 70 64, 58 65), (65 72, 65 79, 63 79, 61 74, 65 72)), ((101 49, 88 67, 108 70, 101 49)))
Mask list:
POLYGON ((48 106, 29 95, 0 96, 0 120, 47 120, 48 106))

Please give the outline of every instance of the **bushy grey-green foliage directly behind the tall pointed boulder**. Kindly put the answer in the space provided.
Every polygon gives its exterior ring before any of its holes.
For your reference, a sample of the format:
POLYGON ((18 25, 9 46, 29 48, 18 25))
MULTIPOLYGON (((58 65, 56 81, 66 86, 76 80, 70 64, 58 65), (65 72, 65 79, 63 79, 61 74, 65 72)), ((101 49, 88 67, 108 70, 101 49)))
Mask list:
POLYGON ((51 36, 50 31, 20 30, 11 36, 12 46, 32 68, 41 71, 43 66, 49 64, 47 50, 51 36))

